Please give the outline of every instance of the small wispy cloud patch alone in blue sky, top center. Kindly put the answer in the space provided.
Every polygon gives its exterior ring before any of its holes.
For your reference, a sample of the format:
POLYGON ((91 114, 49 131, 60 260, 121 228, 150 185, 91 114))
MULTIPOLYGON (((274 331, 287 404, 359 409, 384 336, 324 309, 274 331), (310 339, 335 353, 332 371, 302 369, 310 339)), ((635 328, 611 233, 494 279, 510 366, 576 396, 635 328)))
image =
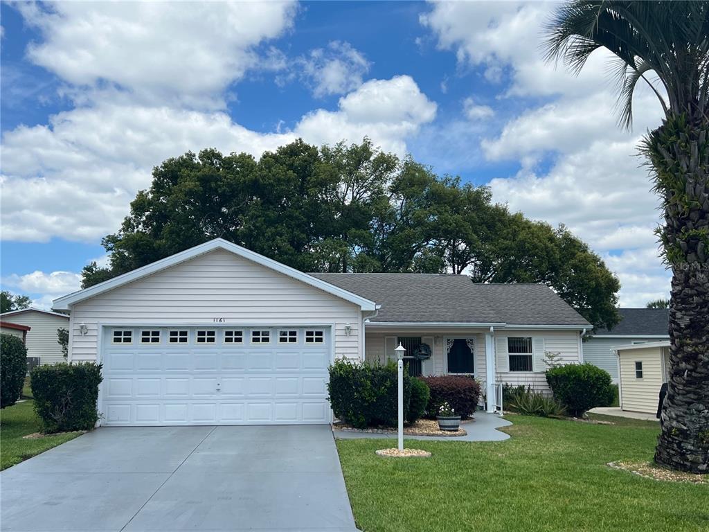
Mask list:
POLYGON ((362 52, 338 40, 330 42, 327 48, 311 50, 307 57, 296 60, 294 66, 316 98, 357 89, 369 72, 369 61, 362 52))

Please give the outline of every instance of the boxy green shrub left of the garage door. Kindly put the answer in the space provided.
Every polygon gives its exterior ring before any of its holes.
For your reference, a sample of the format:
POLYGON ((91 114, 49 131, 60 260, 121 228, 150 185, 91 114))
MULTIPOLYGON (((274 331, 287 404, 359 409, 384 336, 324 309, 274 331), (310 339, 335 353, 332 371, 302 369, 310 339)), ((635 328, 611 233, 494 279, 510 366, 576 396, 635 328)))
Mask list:
POLYGON ((35 412, 45 433, 90 431, 99 420, 101 365, 94 362, 37 366, 30 374, 35 412))

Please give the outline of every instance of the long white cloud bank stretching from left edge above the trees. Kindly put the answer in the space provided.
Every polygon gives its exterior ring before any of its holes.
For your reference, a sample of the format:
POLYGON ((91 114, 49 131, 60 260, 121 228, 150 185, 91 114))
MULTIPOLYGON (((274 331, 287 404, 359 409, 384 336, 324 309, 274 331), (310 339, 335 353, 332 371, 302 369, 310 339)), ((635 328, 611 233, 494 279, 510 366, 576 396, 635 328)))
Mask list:
POLYGON ((150 186, 152 167, 187 150, 214 147, 259 157, 297 137, 320 144, 369 135, 403 155, 407 138, 435 112, 408 76, 366 82, 341 98, 336 111, 313 111, 283 133, 251 131, 221 112, 123 102, 64 111, 48 126, 19 126, 3 135, 3 238, 90 241, 116 231, 135 193, 150 186))

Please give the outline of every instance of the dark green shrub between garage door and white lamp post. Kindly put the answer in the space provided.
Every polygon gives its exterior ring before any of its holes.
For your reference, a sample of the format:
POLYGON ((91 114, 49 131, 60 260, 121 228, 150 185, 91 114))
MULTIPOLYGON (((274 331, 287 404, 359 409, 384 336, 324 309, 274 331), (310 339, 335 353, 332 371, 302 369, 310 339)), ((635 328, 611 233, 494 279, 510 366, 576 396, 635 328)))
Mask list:
MULTIPOLYGON (((357 428, 396 426, 398 382, 396 363, 386 365, 336 360, 330 366, 328 394, 337 419, 357 428)), ((411 401, 411 377, 403 376, 404 419, 411 401)))

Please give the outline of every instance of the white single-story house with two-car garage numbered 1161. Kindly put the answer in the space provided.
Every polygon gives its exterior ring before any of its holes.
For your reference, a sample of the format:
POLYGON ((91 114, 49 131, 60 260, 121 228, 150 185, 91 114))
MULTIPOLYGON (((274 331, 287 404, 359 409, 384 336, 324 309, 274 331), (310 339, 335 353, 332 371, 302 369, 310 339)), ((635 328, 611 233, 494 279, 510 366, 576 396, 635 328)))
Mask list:
MULTIPOLYGON (((69 360, 104 367, 106 425, 329 423, 328 366, 432 357, 415 375, 547 389, 591 325, 537 284, 460 275, 311 274, 216 239, 54 301, 69 360)), ((489 401, 489 409, 493 409, 489 401)))

